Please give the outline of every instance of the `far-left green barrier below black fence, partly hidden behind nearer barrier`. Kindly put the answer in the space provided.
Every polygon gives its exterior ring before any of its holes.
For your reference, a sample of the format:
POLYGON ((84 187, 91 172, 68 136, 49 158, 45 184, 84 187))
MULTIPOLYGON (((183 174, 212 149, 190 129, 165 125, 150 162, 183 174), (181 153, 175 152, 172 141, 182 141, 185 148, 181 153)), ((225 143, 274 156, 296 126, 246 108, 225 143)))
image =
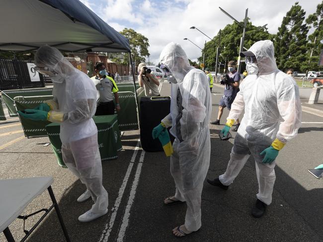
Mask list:
POLYGON ((8 108, 8 113, 10 117, 17 117, 18 114, 14 107, 13 99, 14 97, 23 96, 48 96, 52 95, 53 88, 44 87, 44 88, 29 88, 29 89, 16 89, 16 90, 5 90, 2 91, 3 102, 8 108))

